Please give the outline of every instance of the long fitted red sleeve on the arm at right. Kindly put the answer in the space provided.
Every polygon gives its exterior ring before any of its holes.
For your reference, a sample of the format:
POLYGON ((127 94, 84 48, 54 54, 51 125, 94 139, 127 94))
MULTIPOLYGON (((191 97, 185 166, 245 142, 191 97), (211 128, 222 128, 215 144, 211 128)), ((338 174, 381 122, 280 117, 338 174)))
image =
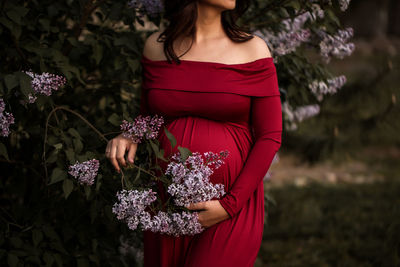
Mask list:
POLYGON ((271 96, 252 97, 251 105, 251 125, 255 142, 232 188, 219 199, 231 218, 241 210, 263 182, 275 153, 281 146, 280 96, 275 93, 271 96))

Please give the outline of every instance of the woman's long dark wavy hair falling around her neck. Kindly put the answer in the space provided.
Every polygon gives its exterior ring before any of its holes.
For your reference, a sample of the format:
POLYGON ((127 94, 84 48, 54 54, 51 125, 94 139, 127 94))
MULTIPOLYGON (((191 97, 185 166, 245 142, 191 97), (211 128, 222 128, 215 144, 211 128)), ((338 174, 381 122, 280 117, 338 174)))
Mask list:
MULTIPOLYGON (((249 33, 248 27, 244 28, 236 24, 236 21, 249 8, 249 2, 249 0, 237 0, 233 10, 224 10, 221 13, 223 29, 234 42, 245 42, 254 37, 249 33)), ((164 41, 164 53, 168 62, 171 63, 170 59, 172 59, 179 64, 180 60, 174 52, 173 42, 183 34, 190 36, 193 44, 196 33, 197 0, 164 0, 163 4, 164 18, 169 21, 169 24, 158 36, 157 41, 159 42, 163 38, 161 41, 164 41)), ((190 47, 192 47, 192 44, 190 47)))

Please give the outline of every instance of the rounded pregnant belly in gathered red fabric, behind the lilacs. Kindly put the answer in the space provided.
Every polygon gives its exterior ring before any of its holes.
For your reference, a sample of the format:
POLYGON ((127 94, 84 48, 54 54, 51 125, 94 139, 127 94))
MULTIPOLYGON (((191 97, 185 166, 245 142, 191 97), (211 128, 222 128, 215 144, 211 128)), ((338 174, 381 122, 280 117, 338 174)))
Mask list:
POLYGON ((244 126, 195 116, 179 117, 165 126, 177 141, 177 146, 171 151, 170 142, 162 131, 159 141, 166 156, 177 152, 178 146, 186 147, 192 152, 201 154, 208 151, 214 153, 223 150, 229 151, 228 157, 224 160, 225 163, 214 170, 214 173, 210 176, 212 183, 222 183, 225 190, 229 191, 251 149, 252 139, 249 129, 244 126))

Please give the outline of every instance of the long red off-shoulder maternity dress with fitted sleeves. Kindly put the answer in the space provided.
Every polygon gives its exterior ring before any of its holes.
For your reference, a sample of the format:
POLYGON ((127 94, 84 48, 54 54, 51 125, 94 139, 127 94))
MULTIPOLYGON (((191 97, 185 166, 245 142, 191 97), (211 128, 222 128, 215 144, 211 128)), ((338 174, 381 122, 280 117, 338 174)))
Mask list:
MULTIPOLYGON (((273 59, 239 64, 141 58, 141 114, 159 114, 178 145, 229 156, 210 181, 222 183, 229 219, 194 236, 144 231, 145 267, 252 267, 264 228, 263 177, 281 145, 282 112, 273 59)), ((165 170, 166 165, 162 168, 165 170)))

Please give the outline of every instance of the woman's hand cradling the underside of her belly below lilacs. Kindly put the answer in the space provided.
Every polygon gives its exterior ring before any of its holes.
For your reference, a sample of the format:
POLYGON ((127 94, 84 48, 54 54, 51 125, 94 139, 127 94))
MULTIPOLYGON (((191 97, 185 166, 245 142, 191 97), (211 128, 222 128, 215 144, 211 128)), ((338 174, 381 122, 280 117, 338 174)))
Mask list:
POLYGON ((192 203, 186 206, 186 208, 189 210, 202 210, 199 212, 199 223, 204 228, 208 228, 230 217, 218 200, 192 203))

